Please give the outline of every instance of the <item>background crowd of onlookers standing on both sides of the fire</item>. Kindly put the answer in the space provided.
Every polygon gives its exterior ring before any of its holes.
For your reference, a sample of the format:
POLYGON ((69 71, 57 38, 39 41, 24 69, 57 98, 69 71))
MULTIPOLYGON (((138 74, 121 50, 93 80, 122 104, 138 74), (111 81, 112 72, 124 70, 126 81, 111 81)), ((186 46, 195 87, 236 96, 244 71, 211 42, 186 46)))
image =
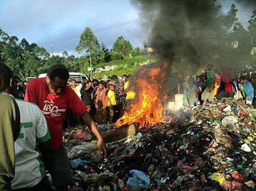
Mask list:
MULTIPOLYGON (((232 70, 226 66, 214 69, 213 65, 209 64, 207 68, 201 69, 199 76, 186 76, 175 72, 169 78, 169 87, 161 89, 163 114, 168 113, 169 102, 180 105, 178 108, 193 107, 213 99, 231 97, 242 98, 246 104, 255 105, 255 66, 244 70, 232 70)), ((88 80, 85 84, 76 83, 73 79, 69 85, 89 108, 96 122, 111 124, 122 117, 124 111, 130 109, 133 99, 138 95, 136 91, 139 88, 134 89, 136 83, 131 83, 132 80, 134 82, 134 77, 126 74, 121 78, 116 75, 105 75, 103 78, 88 80)), ((70 120, 67 118, 67 121, 70 120)), ((76 119, 74 124, 80 125, 81 120, 76 119)))

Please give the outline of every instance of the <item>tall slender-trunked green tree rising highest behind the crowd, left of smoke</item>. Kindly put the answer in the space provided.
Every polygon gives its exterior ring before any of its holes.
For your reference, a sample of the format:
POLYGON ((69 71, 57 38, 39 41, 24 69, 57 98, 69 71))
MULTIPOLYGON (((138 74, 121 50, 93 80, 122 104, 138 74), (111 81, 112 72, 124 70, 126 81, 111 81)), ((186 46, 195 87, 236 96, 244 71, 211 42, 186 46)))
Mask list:
MULTIPOLYGON (((100 50, 100 44, 89 27, 86 27, 80 35, 79 44, 76 46, 76 52, 89 55, 90 67, 92 68, 92 57, 95 57, 100 50)), ((92 73, 92 72, 91 72, 92 73)))

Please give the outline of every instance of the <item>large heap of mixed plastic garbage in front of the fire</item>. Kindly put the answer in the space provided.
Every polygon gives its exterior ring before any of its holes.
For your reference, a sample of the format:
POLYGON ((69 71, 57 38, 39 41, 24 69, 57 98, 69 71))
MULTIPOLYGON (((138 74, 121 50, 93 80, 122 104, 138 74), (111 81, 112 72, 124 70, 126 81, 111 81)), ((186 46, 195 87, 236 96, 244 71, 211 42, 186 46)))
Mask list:
MULTIPOLYGON (((105 159, 85 129, 66 131, 76 189, 256 189, 255 109, 242 100, 223 99, 171 117, 170 123, 108 142, 105 159)), ((108 125, 98 128, 102 133, 112 130, 108 125)))

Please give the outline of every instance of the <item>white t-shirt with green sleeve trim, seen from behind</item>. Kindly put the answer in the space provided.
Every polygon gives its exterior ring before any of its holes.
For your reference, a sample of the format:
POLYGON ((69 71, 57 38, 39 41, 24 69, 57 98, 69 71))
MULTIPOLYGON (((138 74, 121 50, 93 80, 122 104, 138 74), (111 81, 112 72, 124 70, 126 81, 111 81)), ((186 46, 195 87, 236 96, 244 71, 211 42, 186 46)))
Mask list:
POLYGON ((14 142, 15 175, 12 189, 30 188, 45 177, 45 168, 38 149, 38 140, 49 140, 49 128, 44 114, 36 104, 15 99, 20 111, 20 133, 14 142))

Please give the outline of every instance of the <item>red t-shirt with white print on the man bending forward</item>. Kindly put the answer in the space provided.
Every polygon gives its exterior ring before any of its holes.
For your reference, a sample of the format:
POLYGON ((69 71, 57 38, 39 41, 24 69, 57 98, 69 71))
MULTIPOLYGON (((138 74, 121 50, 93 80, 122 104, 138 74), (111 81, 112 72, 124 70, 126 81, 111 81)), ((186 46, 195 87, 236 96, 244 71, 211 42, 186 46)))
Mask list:
POLYGON ((76 116, 87 111, 84 102, 70 87, 64 87, 59 96, 50 94, 45 78, 33 79, 28 83, 25 100, 37 104, 44 113, 51 134, 50 150, 57 149, 62 143, 62 128, 66 110, 70 109, 76 116))

